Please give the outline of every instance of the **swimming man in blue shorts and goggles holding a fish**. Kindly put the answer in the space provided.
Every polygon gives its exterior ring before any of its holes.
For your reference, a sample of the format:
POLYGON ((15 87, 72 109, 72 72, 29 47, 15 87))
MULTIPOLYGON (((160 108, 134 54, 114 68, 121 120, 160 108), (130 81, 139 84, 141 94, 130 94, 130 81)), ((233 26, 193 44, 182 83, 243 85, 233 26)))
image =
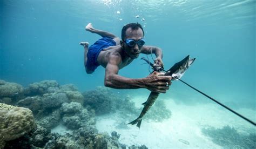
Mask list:
POLYGON ((139 89, 145 88, 153 92, 165 93, 171 85, 170 76, 161 76, 163 73, 153 72, 146 78, 132 79, 118 75, 118 71, 138 58, 140 53, 156 55, 155 64, 163 66, 162 51, 155 46, 146 46, 144 31, 140 24, 130 23, 122 29, 122 40, 110 32, 97 30, 89 23, 86 31, 102 36, 96 43, 81 42, 84 46, 84 66, 86 73, 92 73, 102 65, 105 67, 104 85, 114 89, 139 89))

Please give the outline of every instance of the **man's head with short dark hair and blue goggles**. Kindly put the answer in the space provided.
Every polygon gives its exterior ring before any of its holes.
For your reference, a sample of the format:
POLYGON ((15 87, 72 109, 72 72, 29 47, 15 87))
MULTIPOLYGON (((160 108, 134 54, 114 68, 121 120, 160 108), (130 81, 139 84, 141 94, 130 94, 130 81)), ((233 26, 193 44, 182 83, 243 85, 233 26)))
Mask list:
POLYGON ((130 23, 122 29, 122 49, 131 58, 138 58, 142 46, 145 44, 142 25, 130 23))

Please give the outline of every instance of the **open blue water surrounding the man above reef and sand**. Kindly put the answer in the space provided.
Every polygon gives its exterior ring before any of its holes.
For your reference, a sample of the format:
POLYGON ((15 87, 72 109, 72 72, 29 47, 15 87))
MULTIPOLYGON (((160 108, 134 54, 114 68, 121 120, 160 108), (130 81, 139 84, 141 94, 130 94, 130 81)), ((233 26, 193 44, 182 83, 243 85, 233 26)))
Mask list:
MULTIPOLYGON (((103 67, 92 75, 84 70, 78 43, 92 44, 100 38, 84 26, 92 23, 120 37, 124 24, 138 22, 145 25, 146 45, 163 49, 165 69, 187 55, 196 57, 183 80, 219 101, 255 109, 255 8, 256 1, 3 0, 0 79, 23 86, 53 79, 75 84, 80 91, 103 86, 103 67)), ((146 77, 148 66, 142 63, 134 60, 119 75, 146 77)), ((149 94, 146 89, 114 91, 149 94)), ((161 96, 198 103, 208 100, 178 81, 161 96)), ((250 118, 256 120, 255 114, 250 118)))

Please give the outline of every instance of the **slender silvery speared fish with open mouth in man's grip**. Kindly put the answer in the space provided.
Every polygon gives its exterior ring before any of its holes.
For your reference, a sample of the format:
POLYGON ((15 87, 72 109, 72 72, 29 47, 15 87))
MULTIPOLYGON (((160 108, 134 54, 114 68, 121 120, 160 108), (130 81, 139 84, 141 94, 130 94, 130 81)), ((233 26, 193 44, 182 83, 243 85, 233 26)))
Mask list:
MULTIPOLYGON (((151 62, 149 62, 149 60, 145 58, 142 58, 142 59, 144 59, 147 63, 149 63, 153 67, 153 70, 160 70, 160 69, 154 68, 154 66, 156 65, 153 65, 151 62)), ((194 62, 195 59, 196 58, 190 59, 189 55, 186 56, 183 60, 174 64, 171 67, 171 69, 164 71, 165 72, 164 76, 172 76, 172 80, 178 80, 177 78, 180 79, 184 75, 188 67, 190 67, 190 65, 194 62)), ((137 124, 136 126, 140 128, 140 125, 142 124, 142 118, 145 116, 147 111, 150 110, 151 106, 157 100, 159 94, 160 94, 159 92, 151 92, 150 96, 147 98, 147 101, 143 103, 144 107, 142 109, 142 112, 140 112, 139 117, 128 124, 132 124, 132 125, 137 124)))

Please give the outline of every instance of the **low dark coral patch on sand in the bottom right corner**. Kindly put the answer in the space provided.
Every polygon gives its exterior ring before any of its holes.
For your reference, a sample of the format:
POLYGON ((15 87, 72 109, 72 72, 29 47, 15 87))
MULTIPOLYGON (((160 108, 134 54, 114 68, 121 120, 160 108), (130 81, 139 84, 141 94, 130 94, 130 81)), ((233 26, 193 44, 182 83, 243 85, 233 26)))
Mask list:
POLYGON ((224 148, 256 148, 256 133, 240 134, 234 127, 208 127, 201 130, 205 136, 211 137, 215 144, 224 148))

